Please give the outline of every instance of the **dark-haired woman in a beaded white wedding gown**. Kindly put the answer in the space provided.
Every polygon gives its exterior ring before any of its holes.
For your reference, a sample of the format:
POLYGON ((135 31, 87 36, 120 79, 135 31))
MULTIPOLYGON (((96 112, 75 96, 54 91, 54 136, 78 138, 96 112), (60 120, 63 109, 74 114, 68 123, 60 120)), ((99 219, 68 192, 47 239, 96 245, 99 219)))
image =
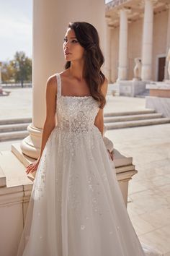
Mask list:
POLYGON ((73 22, 48 79, 40 158, 17 256, 143 256, 102 140, 107 79, 97 30, 73 22), (55 126, 55 112, 57 125, 55 126))

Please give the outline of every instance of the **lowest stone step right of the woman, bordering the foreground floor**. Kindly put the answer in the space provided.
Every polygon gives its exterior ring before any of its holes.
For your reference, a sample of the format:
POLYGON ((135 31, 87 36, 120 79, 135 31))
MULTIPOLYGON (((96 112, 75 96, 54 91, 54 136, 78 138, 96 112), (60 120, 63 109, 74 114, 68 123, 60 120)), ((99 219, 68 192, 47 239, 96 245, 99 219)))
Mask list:
POLYGON ((129 127, 142 127, 147 125, 154 124, 167 124, 170 123, 169 118, 159 118, 159 119, 146 119, 138 121, 117 121, 115 123, 106 123, 107 129, 120 129, 120 128, 129 128, 129 127))

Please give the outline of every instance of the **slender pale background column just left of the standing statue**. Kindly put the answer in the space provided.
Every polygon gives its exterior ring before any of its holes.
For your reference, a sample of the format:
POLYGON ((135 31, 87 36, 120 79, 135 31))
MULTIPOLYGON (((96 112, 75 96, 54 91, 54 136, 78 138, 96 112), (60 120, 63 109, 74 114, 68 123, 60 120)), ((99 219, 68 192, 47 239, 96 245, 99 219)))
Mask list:
POLYGON ((128 12, 129 9, 120 9, 119 67, 117 81, 127 80, 128 12))

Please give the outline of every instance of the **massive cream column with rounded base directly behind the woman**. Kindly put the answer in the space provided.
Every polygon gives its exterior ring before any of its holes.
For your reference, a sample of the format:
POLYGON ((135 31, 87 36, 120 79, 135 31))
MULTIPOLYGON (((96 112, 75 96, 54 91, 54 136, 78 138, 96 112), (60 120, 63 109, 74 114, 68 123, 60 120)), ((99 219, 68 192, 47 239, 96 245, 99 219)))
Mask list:
POLYGON ((68 22, 91 22, 99 31, 104 51, 104 16, 103 0, 33 1, 32 124, 28 127, 30 135, 21 144, 22 152, 26 155, 37 158, 40 154, 46 81, 51 74, 63 70, 62 45, 68 22))

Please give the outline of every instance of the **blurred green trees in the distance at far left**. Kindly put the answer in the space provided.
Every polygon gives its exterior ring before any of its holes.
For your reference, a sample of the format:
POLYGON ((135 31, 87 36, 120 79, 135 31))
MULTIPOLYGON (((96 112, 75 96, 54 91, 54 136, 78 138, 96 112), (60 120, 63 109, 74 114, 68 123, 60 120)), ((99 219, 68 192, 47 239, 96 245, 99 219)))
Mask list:
POLYGON ((17 51, 14 59, 1 67, 2 82, 24 82, 32 81, 32 60, 25 56, 23 51, 17 51))

